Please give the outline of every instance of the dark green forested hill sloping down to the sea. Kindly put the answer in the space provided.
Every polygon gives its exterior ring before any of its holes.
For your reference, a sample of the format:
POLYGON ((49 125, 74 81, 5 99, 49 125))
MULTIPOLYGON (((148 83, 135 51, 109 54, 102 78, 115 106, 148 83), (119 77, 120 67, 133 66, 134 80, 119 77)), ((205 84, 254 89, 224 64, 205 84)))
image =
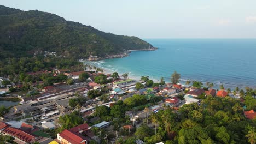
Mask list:
POLYGON ((0 5, 0 59, 32 56, 36 51, 77 58, 104 57, 152 47, 137 37, 104 33, 55 14, 0 5))

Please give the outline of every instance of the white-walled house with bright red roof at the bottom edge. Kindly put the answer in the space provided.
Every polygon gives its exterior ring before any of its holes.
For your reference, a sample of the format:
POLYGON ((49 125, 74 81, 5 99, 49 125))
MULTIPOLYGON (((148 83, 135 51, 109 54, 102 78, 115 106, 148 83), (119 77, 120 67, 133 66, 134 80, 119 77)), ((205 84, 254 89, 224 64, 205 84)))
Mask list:
POLYGON ((83 136, 72 133, 67 129, 63 130, 61 133, 57 134, 57 140, 62 144, 85 144, 86 139, 83 136))

